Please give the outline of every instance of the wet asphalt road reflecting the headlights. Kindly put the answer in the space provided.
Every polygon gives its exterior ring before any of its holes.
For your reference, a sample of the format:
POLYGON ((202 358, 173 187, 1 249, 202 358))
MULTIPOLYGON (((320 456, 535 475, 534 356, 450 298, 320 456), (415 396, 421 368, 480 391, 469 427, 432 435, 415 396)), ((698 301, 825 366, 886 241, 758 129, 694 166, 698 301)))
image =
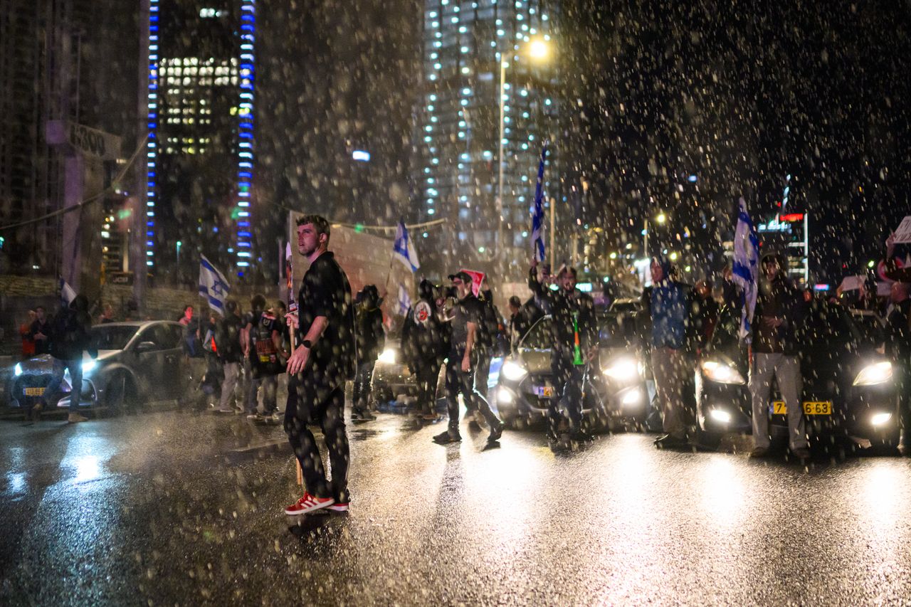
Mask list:
MULTIPOLYGON (((0 422, 2 604, 909 604, 911 460, 482 450, 381 415, 352 511, 292 520, 290 452, 241 417, 0 422), (238 450, 241 448, 241 450, 238 450), (256 456, 256 457, 254 457, 256 456)), ((280 444, 280 443, 279 443, 280 444)))

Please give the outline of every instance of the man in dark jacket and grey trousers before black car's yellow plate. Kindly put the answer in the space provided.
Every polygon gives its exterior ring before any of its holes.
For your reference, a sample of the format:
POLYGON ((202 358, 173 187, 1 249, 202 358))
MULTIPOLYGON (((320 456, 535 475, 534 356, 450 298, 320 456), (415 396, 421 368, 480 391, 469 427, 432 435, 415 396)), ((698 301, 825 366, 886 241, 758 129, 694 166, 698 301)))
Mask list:
POLYGON ((788 444, 793 455, 810 457, 801 403, 802 377, 797 330, 804 324, 808 304, 804 293, 784 276, 787 263, 782 254, 763 255, 759 296, 752 320, 752 458, 769 452, 769 398, 774 377, 788 411, 788 444))

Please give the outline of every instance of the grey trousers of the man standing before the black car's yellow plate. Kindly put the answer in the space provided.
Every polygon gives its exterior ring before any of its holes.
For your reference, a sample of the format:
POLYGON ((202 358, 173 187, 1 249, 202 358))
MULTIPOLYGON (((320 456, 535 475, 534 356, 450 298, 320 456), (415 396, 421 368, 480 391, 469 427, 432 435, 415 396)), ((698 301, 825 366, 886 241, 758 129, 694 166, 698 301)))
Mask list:
POLYGON ((750 394, 752 395, 752 438, 756 455, 768 451, 769 404, 772 396, 772 378, 778 380, 784 406, 788 410, 788 445, 794 454, 806 451, 810 444, 806 440, 804 406, 800 394, 803 378, 800 375, 800 361, 797 356, 756 353, 750 370, 750 394))

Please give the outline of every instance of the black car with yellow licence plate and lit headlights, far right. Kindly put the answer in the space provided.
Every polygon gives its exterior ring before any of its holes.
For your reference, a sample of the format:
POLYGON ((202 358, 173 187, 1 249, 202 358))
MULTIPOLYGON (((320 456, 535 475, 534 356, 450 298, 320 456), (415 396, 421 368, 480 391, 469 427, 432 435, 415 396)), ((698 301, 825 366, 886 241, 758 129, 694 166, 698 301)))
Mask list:
MULTIPOLYGON (((696 411, 702 442, 723 433, 752 433, 746 346, 738 341, 740 311, 722 311, 709 351, 696 369, 696 411)), ((898 399, 885 357, 879 318, 838 304, 815 301, 798 333, 811 444, 824 437, 865 438, 891 447, 899 437, 898 399)), ((768 403, 774 435, 786 436, 786 408, 778 387, 768 403)))

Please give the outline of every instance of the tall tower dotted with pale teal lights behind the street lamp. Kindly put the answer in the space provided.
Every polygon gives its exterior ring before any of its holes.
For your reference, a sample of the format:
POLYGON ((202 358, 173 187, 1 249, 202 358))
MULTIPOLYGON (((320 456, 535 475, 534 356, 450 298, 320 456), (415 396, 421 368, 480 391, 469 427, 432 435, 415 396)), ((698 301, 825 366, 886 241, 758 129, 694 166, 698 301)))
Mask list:
POLYGON ((557 17, 546 0, 425 2, 415 180, 422 218, 451 226, 442 244, 455 259, 490 269, 495 259, 511 262, 517 267, 510 274, 525 265, 537 164, 548 139, 546 207, 564 200, 557 17))

